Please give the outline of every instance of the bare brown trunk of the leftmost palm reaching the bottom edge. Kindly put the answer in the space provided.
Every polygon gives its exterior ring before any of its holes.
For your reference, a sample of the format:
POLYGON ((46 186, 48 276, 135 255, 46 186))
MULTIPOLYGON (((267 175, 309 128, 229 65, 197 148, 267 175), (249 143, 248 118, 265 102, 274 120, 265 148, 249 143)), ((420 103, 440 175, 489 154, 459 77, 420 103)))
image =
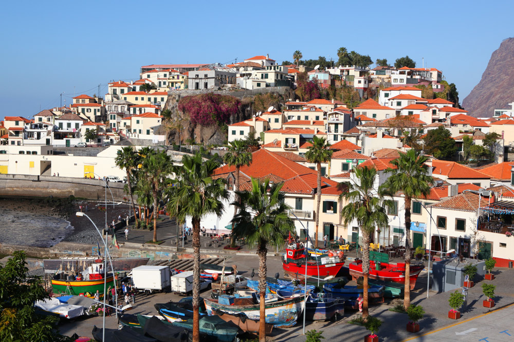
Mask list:
POLYGON ((200 220, 192 218, 193 224, 193 342, 200 341, 200 220))

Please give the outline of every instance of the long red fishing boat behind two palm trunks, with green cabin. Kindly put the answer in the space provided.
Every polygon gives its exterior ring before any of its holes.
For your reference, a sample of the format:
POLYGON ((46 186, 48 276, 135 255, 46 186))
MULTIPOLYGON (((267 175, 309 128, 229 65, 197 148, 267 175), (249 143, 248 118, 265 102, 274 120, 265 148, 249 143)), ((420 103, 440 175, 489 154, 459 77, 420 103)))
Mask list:
MULTIPOLYGON (((362 276, 362 260, 356 259, 350 265, 350 275, 353 280, 356 280, 358 277, 362 276)), ((410 266, 410 286, 411 290, 416 286, 416 280, 425 266, 423 264, 411 264, 410 266)), ((389 264, 389 263, 380 263, 380 267, 377 270, 377 265, 375 261, 370 260, 370 278, 385 280, 385 281, 394 281, 395 283, 405 283, 405 263, 398 264, 389 264)))

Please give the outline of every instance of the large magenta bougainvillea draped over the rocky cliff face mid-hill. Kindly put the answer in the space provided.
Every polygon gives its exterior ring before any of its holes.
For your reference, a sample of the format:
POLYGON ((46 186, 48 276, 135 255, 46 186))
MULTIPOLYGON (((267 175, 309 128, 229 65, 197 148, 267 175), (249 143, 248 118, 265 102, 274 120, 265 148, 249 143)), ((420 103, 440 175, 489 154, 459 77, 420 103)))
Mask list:
POLYGON ((240 110, 241 101, 233 96, 214 93, 182 97, 178 110, 189 115, 194 125, 228 124, 240 110))

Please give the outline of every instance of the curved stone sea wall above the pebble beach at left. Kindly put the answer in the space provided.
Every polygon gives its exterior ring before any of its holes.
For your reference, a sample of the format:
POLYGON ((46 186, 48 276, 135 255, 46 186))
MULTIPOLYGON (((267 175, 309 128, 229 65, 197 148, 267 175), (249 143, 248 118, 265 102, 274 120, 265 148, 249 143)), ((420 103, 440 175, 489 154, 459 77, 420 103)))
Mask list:
MULTIPOLYGON (((108 183, 107 200, 120 201, 125 196, 123 183, 108 183), (111 189, 111 192, 109 192, 111 189)), ((0 196, 75 197, 101 200, 105 183, 99 179, 0 174, 0 196)))

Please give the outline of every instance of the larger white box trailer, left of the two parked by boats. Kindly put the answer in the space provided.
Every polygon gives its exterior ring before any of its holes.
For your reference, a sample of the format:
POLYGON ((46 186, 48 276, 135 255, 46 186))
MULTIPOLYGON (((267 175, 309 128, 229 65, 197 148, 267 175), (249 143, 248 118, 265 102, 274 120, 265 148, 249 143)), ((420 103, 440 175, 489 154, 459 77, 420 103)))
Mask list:
POLYGON ((133 268, 132 281, 140 292, 166 291, 170 288, 170 267, 143 265, 133 268))

